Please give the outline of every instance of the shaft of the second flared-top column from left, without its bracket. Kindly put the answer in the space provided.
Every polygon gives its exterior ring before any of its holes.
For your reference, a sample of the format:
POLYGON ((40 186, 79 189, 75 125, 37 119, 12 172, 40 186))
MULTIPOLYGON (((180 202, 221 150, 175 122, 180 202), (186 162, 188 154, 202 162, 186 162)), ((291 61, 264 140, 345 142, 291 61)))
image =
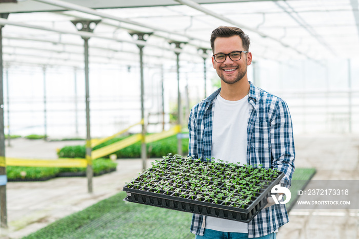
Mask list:
POLYGON ((146 137, 145 105, 144 105, 145 86, 144 86, 144 69, 143 69, 144 46, 137 45, 137 47, 139 48, 139 68, 140 68, 140 77, 141 77, 141 119, 142 119, 141 159, 142 159, 142 169, 146 169, 147 148, 145 142, 145 137, 146 137))

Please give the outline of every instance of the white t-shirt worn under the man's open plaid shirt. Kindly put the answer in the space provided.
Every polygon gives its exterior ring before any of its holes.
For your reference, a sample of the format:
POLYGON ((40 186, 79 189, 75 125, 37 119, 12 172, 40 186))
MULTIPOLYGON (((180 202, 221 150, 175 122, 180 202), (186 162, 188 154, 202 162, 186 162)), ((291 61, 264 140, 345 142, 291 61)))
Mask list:
MULTIPOLYGON (((212 155, 230 163, 247 163, 247 125, 250 104, 248 95, 229 101, 219 94, 214 102, 212 155)), ((224 232, 248 233, 248 223, 206 216, 208 229, 224 232)))

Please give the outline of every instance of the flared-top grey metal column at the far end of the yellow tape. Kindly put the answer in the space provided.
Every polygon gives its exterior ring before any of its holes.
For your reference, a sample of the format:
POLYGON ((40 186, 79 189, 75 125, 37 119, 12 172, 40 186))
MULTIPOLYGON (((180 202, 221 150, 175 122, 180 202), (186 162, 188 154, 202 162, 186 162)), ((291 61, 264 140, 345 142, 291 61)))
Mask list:
MULTIPOLYGON (((181 45, 186 44, 187 42, 183 41, 169 41, 170 44, 174 44, 176 49, 182 49, 181 45)), ((178 119, 177 124, 181 130, 182 128, 182 104, 181 104, 181 92, 179 91, 179 54, 180 51, 175 52, 177 56, 177 105, 178 105, 178 119)), ((177 154, 182 155, 182 139, 181 139, 181 132, 177 134, 177 154)))

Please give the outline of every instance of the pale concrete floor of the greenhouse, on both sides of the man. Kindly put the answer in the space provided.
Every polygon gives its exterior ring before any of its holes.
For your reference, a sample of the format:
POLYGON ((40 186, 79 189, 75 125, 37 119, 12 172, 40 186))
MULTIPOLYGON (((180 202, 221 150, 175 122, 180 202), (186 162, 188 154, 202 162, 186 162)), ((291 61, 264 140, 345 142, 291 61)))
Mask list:
MULTIPOLYGON (((6 155, 26 158, 56 158, 56 148, 83 144, 25 139, 11 142, 12 147, 6 148, 6 155)), ((315 167, 317 173, 313 180, 359 180, 358 135, 300 135, 295 136, 295 147, 295 166, 315 167)), ((9 228, 0 230, 0 238, 21 238, 121 191, 125 182, 141 172, 142 163, 138 159, 117 161, 117 171, 93 179, 93 193, 87 192, 86 178, 9 182, 9 228)), ((294 207, 289 213, 290 222, 280 228, 277 239, 359 238, 358 209, 305 210, 294 207)))

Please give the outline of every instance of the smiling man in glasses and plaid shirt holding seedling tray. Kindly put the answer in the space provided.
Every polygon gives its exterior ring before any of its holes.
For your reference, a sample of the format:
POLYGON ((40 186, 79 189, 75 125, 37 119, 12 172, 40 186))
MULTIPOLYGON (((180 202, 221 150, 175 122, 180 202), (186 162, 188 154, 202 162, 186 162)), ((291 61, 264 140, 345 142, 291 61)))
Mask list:
MULTIPOLYGON (((285 173, 282 186, 289 188, 295 153, 288 106, 248 81, 249 45, 239 28, 212 32, 212 64, 221 88, 191 110, 188 157, 277 168, 285 173)), ((268 202, 249 223, 193 214, 191 232, 196 238, 275 238, 289 220, 285 205, 268 202)))

